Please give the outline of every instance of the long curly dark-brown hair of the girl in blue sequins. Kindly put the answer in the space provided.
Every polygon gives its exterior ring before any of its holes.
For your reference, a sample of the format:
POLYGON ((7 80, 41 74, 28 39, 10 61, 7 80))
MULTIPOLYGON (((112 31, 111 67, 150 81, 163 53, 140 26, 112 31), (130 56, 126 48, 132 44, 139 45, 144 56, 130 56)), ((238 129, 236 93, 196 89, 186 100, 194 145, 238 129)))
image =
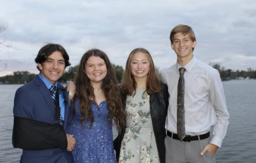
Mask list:
POLYGON ((80 124, 83 126, 83 121, 90 121, 90 127, 92 127, 92 124, 94 122, 92 106, 90 102, 90 99, 92 99, 96 103, 94 89, 90 83, 90 79, 85 74, 85 64, 91 56, 100 57, 105 61, 107 67, 107 74, 101 83, 101 89, 107 101, 107 107, 109 110, 108 120, 111 123, 112 117, 117 128, 119 129, 118 121, 121 123, 121 125, 125 124, 125 111, 123 110, 120 89, 117 85, 115 72, 108 59, 108 56, 99 49, 88 50, 86 53, 84 53, 84 55, 81 58, 78 73, 75 79, 76 93, 73 98, 71 120, 75 116, 75 102, 77 99, 79 99, 79 111, 81 113, 80 124))

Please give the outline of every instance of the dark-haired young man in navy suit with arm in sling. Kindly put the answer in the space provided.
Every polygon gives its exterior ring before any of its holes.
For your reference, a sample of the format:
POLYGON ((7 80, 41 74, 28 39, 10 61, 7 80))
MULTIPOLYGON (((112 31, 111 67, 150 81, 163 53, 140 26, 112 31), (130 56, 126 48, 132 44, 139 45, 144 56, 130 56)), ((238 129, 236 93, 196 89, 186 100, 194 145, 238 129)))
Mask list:
POLYGON ((68 94, 57 82, 70 65, 69 56, 61 45, 47 44, 40 49, 35 61, 40 73, 15 94, 13 145, 23 149, 22 163, 73 162, 70 152, 75 147, 75 139, 73 135, 65 133, 69 113, 68 94), (52 97, 51 87, 56 88, 56 98, 52 97), (53 126, 54 129, 51 128, 53 126), (23 133, 25 136, 22 138, 23 133), (26 140, 28 143, 24 144, 26 140))

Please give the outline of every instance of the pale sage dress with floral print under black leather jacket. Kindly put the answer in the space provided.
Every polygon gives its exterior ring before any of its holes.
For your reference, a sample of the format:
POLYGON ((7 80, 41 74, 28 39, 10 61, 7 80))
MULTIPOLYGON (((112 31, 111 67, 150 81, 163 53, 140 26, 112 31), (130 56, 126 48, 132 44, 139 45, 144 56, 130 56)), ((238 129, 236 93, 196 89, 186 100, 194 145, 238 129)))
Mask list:
POLYGON ((126 100, 125 134, 121 144, 119 163, 159 163, 145 89, 137 89, 135 96, 126 100))

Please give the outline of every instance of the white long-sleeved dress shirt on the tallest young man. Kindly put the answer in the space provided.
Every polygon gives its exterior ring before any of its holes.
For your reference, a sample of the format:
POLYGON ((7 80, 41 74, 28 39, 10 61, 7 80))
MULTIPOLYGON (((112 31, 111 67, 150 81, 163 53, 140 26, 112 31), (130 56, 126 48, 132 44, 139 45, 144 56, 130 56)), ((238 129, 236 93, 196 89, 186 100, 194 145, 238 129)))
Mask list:
MULTIPOLYGON (((179 68, 176 63, 162 71, 163 82, 170 94, 166 129, 177 133, 177 86, 179 68)), ((221 146, 226 135, 229 114, 218 70, 195 57, 184 68, 186 135, 201 135, 213 127, 212 144, 221 146)))

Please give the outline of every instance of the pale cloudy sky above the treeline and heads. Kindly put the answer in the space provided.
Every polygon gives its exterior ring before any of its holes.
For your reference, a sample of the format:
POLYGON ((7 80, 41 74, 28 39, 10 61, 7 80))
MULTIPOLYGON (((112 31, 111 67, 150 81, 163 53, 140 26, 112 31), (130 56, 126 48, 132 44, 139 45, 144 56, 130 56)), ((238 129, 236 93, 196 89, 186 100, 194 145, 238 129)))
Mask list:
POLYGON ((147 49, 160 69, 176 62, 169 35, 178 24, 196 34, 198 60, 232 70, 256 69, 255 0, 0 0, 0 76, 38 73, 34 58, 46 43, 61 44, 72 66, 87 50, 106 52, 125 66, 147 49))

